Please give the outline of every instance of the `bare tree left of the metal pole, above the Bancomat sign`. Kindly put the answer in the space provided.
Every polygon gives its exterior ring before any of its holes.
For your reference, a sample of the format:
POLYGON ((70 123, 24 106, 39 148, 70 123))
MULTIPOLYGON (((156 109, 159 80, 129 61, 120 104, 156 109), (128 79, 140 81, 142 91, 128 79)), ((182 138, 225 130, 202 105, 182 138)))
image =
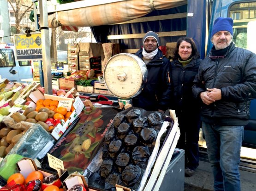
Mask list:
POLYGON ((31 0, 7 0, 12 6, 15 16, 16 34, 20 34, 25 27, 33 29, 34 23, 30 22, 30 11, 33 10, 33 2, 31 0), (28 26, 30 25, 30 26, 28 26))

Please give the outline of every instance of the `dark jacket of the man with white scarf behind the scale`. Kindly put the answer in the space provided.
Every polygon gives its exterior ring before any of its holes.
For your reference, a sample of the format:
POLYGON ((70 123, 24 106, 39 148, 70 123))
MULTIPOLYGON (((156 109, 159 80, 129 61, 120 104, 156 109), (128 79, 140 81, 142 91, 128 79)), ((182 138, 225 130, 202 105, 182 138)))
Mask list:
MULTIPOLYGON (((143 58, 142 49, 137 51, 136 56, 143 58)), ((147 111, 167 110, 170 94, 170 61, 163 57, 158 49, 155 57, 146 65, 148 79, 142 92, 132 99, 134 107, 141 107, 147 111)))

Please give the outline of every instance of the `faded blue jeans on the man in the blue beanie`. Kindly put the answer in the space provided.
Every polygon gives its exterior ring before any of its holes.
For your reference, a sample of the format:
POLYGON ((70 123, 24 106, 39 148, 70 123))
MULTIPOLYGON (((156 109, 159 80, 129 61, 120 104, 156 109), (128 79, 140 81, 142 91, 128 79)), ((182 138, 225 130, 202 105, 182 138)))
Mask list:
POLYGON ((214 174, 214 191, 240 191, 240 151, 244 126, 221 126, 202 122, 208 159, 214 174))

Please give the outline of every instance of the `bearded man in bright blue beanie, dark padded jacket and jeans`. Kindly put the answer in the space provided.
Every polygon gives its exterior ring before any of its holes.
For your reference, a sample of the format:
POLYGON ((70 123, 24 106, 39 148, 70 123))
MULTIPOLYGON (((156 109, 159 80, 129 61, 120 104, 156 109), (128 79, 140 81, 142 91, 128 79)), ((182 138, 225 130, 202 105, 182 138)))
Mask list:
POLYGON ((193 86, 201 99, 202 130, 214 174, 214 191, 240 191, 238 164, 256 98, 256 55, 232 43, 233 20, 219 17, 211 33, 213 48, 202 61, 193 86))

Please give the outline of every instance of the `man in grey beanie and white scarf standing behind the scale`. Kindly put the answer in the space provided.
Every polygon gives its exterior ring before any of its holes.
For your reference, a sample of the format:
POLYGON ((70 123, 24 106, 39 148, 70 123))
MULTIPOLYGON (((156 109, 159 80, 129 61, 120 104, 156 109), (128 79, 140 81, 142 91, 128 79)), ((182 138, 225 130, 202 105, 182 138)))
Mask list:
POLYGON ((142 92, 132 99, 134 107, 165 112, 171 95, 170 61, 163 56, 156 33, 149 31, 143 38, 143 48, 137 51, 148 68, 147 83, 142 92))

